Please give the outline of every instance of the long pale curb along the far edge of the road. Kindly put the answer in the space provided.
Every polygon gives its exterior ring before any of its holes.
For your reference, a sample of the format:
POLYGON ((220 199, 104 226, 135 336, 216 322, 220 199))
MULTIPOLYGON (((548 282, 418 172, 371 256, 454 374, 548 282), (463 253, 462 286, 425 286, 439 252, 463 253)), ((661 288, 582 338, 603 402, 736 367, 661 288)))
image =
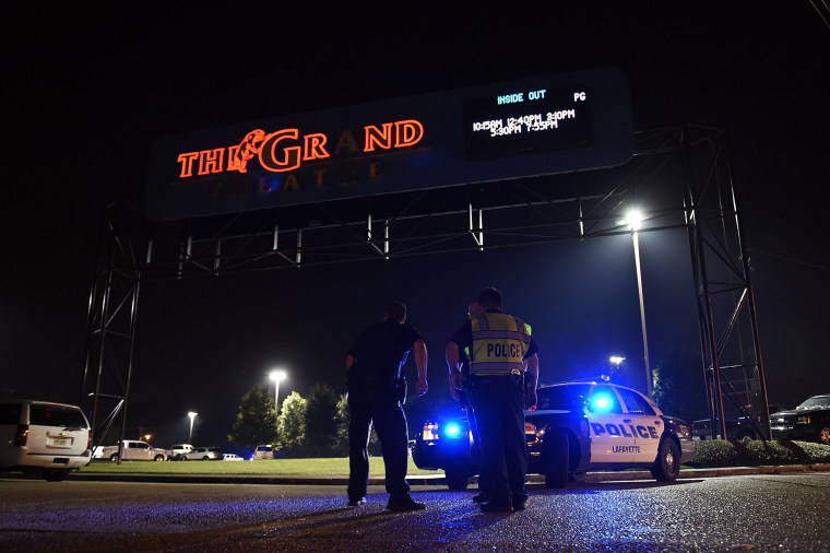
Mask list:
MULTIPOLYGON (((808 472, 830 472, 830 463, 826 464, 784 464, 761 467, 728 467, 713 469, 683 469, 678 480, 695 480, 700 478, 739 476, 748 474, 798 474, 808 472)), ((87 482, 155 482, 155 483, 187 483, 187 484, 282 484, 282 485, 346 485, 347 475, 308 476, 308 475, 274 475, 265 474, 141 474, 141 473, 105 473, 105 472, 72 472, 67 480, 87 482)), ((619 482, 633 480, 654 480, 649 471, 589 472, 585 482, 619 482)), ((471 482, 477 482, 473 476, 471 482)), ((418 474, 406 476, 410 485, 446 485, 443 473, 418 474)), ((529 483, 545 482, 543 474, 529 474, 529 483)), ((383 476, 369 478, 369 485, 383 485, 383 476)))

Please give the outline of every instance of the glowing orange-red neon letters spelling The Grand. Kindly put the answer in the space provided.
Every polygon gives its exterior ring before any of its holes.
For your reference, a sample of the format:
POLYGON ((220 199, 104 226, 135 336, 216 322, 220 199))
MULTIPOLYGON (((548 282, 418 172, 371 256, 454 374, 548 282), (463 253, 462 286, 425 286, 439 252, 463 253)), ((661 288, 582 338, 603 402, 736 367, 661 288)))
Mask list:
MULTIPOLYGON (((386 122, 380 127, 364 127, 363 152, 410 148, 424 138, 424 126, 416 119, 386 122)), ((185 152, 179 154, 179 178, 212 175, 230 170, 248 172, 248 162, 259 158, 263 169, 284 173, 300 167, 304 162, 331 157, 328 137, 321 132, 304 134, 299 129, 281 129, 269 134, 261 129, 248 132, 236 145, 185 152)), ((351 131, 343 131, 334 144, 334 154, 360 151, 351 131)))

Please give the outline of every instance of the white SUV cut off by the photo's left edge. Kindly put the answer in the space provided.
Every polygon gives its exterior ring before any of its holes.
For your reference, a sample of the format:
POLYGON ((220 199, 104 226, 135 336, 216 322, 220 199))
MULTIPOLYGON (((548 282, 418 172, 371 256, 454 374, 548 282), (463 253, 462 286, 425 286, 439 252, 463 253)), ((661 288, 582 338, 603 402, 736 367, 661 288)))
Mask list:
POLYGON ((90 422, 81 409, 47 401, 0 401, 0 471, 61 481, 88 464, 90 422))

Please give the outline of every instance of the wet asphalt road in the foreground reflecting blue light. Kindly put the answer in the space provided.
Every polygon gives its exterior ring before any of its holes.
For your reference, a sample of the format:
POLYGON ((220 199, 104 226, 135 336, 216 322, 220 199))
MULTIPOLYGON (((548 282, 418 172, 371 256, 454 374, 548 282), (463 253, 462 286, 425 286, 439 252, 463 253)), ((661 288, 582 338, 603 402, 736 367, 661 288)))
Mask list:
POLYGON ((485 515, 474 489, 0 480, 0 551, 830 551, 830 473, 532 484, 527 509, 485 515))

